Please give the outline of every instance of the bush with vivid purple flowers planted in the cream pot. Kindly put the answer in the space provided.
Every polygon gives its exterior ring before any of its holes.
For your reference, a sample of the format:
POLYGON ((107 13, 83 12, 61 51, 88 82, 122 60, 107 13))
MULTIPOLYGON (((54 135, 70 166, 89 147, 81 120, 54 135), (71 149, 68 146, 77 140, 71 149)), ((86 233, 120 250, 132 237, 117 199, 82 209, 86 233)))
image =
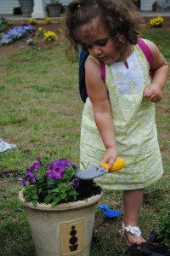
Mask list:
POLYGON ((78 178, 74 177, 77 167, 70 160, 51 161, 50 157, 37 158, 22 178, 26 202, 35 207, 38 203, 51 204, 51 207, 67 201, 77 200, 78 178))

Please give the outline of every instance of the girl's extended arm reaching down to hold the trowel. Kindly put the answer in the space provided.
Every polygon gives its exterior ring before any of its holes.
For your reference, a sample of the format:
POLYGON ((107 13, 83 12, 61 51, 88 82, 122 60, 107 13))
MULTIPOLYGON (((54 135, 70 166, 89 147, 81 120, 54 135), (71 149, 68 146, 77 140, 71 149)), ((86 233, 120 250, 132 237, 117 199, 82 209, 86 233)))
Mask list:
POLYGON ((95 124, 106 148, 101 163, 109 162, 109 168, 111 169, 116 160, 116 139, 108 92, 101 78, 100 67, 97 62, 88 59, 85 70, 88 96, 93 105, 95 124))

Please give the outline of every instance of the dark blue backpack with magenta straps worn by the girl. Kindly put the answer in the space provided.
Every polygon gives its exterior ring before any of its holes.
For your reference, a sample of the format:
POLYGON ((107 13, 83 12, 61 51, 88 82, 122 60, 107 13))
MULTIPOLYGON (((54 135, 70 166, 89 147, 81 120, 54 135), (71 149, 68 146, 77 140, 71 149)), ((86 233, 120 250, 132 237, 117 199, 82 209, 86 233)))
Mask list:
MULTIPOLYGON (((151 66, 152 66, 152 61, 153 61, 153 55, 150 51, 150 48, 144 42, 144 40, 141 39, 141 38, 138 38, 138 45, 139 45, 139 48, 143 51, 143 53, 146 57, 146 60, 148 61, 149 65, 150 65, 149 73, 151 75, 151 66)), ((83 52, 82 49, 80 49, 78 80, 79 80, 80 96, 81 96, 82 102, 84 102, 84 103, 86 102, 86 99, 88 97, 86 83, 85 83, 85 68, 84 68, 84 64, 85 64, 85 61, 88 58, 88 55, 89 55, 88 52, 83 52)), ((105 63, 100 61, 99 66, 100 66, 100 70, 101 70, 101 77, 105 82, 105 63)))

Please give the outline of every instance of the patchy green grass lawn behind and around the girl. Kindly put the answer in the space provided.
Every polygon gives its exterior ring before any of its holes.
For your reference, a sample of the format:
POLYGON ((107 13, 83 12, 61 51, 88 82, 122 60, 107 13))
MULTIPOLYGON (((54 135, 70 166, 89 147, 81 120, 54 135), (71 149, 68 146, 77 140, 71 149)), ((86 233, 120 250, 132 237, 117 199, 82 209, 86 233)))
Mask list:
MULTIPOLYGON (((170 63, 170 32, 151 30, 153 40, 170 63), (162 40, 163 38, 163 40, 162 40)), ((0 256, 35 256, 26 209, 17 195, 26 167, 37 156, 53 154, 79 164, 83 104, 77 85, 77 64, 65 58, 66 42, 41 49, 22 49, 0 59, 0 137, 17 148, 0 154, 0 256)), ((161 180, 145 189, 139 225, 144 237, 170 209, 169 111, 170 80, 156 105, 156 124, 164 165, 161 180)), ((99 204, 122 212, 122 191, 104 191, 99 204)), ((90 256, 121 256, 127 245, 117 234, 122 217, 107 219, 97 210, 90 256)))

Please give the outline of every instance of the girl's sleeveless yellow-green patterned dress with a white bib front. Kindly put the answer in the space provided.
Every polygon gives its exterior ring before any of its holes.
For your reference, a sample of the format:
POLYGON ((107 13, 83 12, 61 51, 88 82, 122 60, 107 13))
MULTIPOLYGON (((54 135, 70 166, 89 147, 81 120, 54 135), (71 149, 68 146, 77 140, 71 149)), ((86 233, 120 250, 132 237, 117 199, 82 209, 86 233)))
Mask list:
MULTIPOLYGON (((88 56, 89 58, 92 56, 88 56)), ((150 84, 149 63, 138 44, 123 62, 105 65, 105 84, 111 102, 118 157, 125 167, 95 178, 103 189, 142 189, 155 183, 163 173, 157 140, 155 103, 143 97, 150 84)), ((105 120, 104 120, 105 121, 105 120)), ((99 166, 105 145, 94 122, 92 103, 87 98, 80 141, 80 168, 99 166)))

